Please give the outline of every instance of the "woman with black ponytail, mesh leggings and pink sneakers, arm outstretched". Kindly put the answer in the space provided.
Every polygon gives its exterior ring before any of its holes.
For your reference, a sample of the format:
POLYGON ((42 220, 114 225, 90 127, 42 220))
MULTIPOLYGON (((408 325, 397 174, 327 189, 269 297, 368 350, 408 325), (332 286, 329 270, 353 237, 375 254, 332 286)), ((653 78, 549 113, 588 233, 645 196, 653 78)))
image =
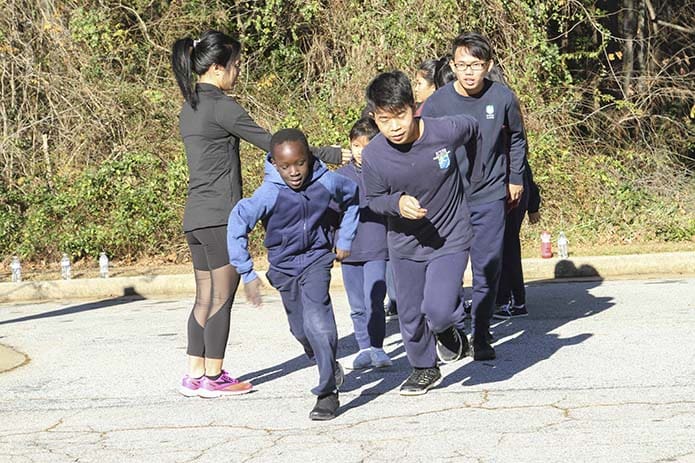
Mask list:
MULTIPOLYGON (((172 46, 171 64, 185 100, 179 114, 189 171, 183 231, 196 281, 188 319, 188 372, 179 388, 189 397, 252 389, 222 369, 239 285, 227 253, 227 219, 242 197, 239 142, 244 139, 267 152, 271 138, 225 94, 237 80, 240 57, 239 41, 218 31, 207 31, 199 40, 180 39, 172 46)), ((343 157, 338 147, 316 149, 314 154, 336 164, 343 157)))

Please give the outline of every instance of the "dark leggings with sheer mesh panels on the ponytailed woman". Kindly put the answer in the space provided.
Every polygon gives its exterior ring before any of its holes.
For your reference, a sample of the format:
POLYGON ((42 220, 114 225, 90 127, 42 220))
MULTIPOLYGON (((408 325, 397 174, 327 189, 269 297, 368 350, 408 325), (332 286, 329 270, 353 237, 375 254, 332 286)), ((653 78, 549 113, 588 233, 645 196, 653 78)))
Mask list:
POLYGON ((229 264, 227 226, 186 232, 195 273, 195 302, 188 317, 188 355, 224 358, 239 274, 229 264))

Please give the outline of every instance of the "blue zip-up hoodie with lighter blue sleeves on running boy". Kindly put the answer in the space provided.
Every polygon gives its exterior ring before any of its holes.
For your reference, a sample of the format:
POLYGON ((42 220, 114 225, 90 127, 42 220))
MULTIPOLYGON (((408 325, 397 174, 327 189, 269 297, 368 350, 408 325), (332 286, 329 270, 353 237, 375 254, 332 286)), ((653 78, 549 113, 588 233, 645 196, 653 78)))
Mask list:
POLYGON ((332 240, 326 213, 331 200, 345 210, 336 248, 349 251, 359 221, 357 184, 330 172, 314 158, 311 179, 295 191, 270 163, 269 154, 263 183, 253 196, 234 206, 227 223, 229 261, 244 283, 257 278, 248 251, 248 234, 259 220, 266 232, 263 245, 268 249, 268 261, 275 270, 296 276, 330 253, 332 240))

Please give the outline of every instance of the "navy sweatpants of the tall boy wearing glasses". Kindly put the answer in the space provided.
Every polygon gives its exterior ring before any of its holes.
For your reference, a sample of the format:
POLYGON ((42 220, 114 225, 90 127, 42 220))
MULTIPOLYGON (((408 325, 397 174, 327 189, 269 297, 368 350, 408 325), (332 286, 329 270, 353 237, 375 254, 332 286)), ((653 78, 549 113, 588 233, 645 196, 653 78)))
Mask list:
POLYGON ((502 270, 506 201, 506 199, 498 199, 469 206, 473 225, 471 334, 475 343, 483 342, 490 330, 490 317, 497 300, 497 288, 502 270))

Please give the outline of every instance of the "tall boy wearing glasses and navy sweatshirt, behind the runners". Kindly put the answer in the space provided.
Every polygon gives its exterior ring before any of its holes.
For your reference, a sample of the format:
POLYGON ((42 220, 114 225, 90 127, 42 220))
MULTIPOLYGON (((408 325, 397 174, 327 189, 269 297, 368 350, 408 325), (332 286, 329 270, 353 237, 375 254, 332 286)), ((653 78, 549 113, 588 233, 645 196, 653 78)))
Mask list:
POLYGON ((427 99, 422 115, 467 114, 480 126, 482 146, 474 160, 470 154, 463 159, 461 174, 473 225, 471 347, 475 360, 492 360, 490 317, 502 267, 505 213, 519 203, 524 191, 526 136, 514 92, 485 78, 494 64, 487 39, 472 32, 461 34, 451 52, 456 79, 427 99))

